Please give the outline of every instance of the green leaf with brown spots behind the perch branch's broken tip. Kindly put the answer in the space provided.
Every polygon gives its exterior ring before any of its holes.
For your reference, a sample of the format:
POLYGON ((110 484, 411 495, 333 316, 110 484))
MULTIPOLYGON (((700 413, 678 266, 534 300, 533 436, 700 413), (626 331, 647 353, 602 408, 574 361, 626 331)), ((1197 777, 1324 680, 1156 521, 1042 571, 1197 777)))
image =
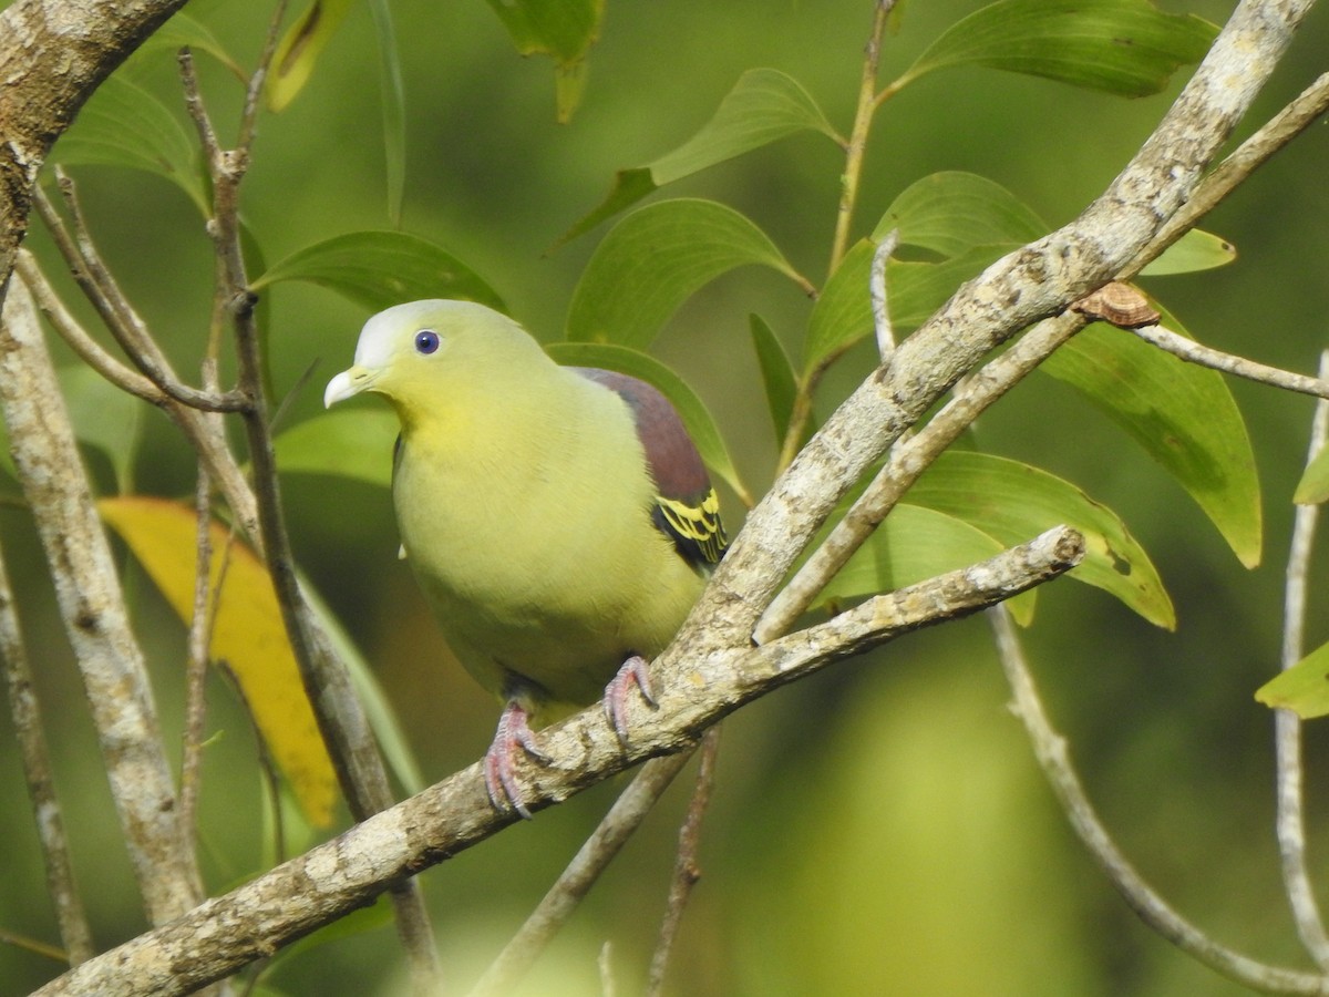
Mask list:
POLYGON ((990 453, 946 451, 909 489, 909 501, 956 516, 1002 546, 1061 522, 1074 526, 1084 534, 1086 553, 1071 578, 1115 596, 1151 623, 1176 626, 1158 570, 1126 524, 1055 475, 990 453))

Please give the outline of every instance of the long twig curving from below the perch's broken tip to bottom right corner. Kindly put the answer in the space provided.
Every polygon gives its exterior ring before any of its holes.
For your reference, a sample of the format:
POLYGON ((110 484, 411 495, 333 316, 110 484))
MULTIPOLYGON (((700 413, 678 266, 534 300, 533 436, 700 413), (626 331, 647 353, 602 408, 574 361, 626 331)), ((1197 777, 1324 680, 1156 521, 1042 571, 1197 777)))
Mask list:
POLYGON ((1071 766, 1066 739, 1057 732, 1043 711, 1010 613, 1003 606, 995 606, 989 610, 987 618, 1010 683, 1011 711, 1025 724, 1043 775, 1075 833, 1140 920, 1204 965, 1244 986, 1276 993, 1329 994, 1329 976, 1271 966, 1221 945, 1181 917, 1144 881, 1122 855, 1084 795, 1084 787, 1071 766))

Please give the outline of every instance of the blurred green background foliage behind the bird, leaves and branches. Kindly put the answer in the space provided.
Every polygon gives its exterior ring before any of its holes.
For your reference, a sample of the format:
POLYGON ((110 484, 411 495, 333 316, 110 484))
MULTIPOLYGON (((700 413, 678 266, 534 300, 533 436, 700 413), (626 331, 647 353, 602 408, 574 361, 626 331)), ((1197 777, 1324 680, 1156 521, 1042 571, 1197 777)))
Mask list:
MULTIPOLYGON (((948 27, 982 5, 909 4, 898 33, 888 36, 882 78, 914 65, 948 27)), ((1164 7, 1221 23, 1232 4, 1164 7)), ((870 8, 852 0, 619 0, 607 5, 586 61, 573 58, 573 49, 556 53, 565 60, 556 84, 550 60, 514 53, 488 4, 393 4, 404 94, 401 229, 465 261, 513 315, 554 340, 607 226, 546 250, 603 203, 615 174, 658 165, 755 68, 797 81, 831 126, 848 132, 870 8), (560 110, 566 124, 558 124, 560 110)), ((189 13, 219 51, 250 65, 270 12, 198 0, 189 13)), ((320 43, 298 97, 260 117, 243 195, 266 261, 348 231, 393 227, 397 153, 383 138, 379 13, 376 20, 369 5, 350 5, 340 31, 320 43)), ((197 33, 186 36, 197 48, 197 33)), ((1239 137, 1321 72, 1325 51, 1329 13, 1318 9, 1239 137)), ((136 62, 128 85, 150 93, 166 120, 191 134, 169 51, 154 47, 136 62)), ((223 128, 233 125, 242 97, 233 69, 203 55, 199 68, 210 108, 223 128)), ((1162 94, 1123 101, 987 68, 930 73, 880 114, 855 238, 870 233, 914 181, 942 170, 995 181, 1061 225, 1135 152, 1184 76, 1162 94)), ((171 132, 155 112, 148 121, 171 132)), ((1200 340, 1314 368, 1329 328, 1326 146, 1322 126, 1309 130, 1205 221, 1237 246, 1232 266, 1144 284, 1200 340)), ((85 152, 81 161, 96 158, 85 152)), ((117 275, 177 368, 189 371, 207 332, 213 274, 195 206, 201 187, 174 157, 157 166, 154 174, 102 165, 70 171, 117 275)), ((788 267, 820 286, 843 166, 809 125, 777 145, 671 174, 668 195, 712 198, 755 219, 788 267)), ((61 271, 40 230, 29 245, 48 273, 61 271)), ((255 266, 255 275, 263 269, 255 266)), ((299 425, 318 413, 326 376, 348 363, 369 308, 291 282, 274 284, 270 303, 272 380, 278 392, 294 392, 283 417, 299 425), (302 380, 314 362, 316 375, 302 380)), ((710 408, 735 476, 756 493, 771 480, 777 444, 763 387, 769 375, 763 378, 750 346, 750 315, 759 314, 771 334, 763 339, 769 368, 773 347, 801 355, 811 312, 787 275, 744 267, 671 316, 666 311, 651 347, 710 408)), ((870 346, 848 346, 823 382, 823 409, 870 368, 870 346)), ((977 439, 986 451, 1065 477, 1119 514, 1176 608, 1177 629, 1168 633, 1099 590, 1058 584, 1039 593, 1037 625, 1026 634, 1050 711, 1110 827, 1140 871, 1216 937, 1302 965, 1272 835, 1272 718, 1252 691, 1276 669, 1281 561, 1312 403, 1247 384, 1233 384, 1232 393, 1264 495, 1264 566, 1256 570, 1241 566, 1172 476, 1059 380, 1030 379, 983 417, 977 439)), ((141 432, 132 467, 113 443, 101 444, 109 459, 88 449, 98 487, 112 493, 133 483, 148 493, 187 495, 194 461, 173 428, 149 412, 141 432)), ((372 479, 365 455, 347 460, 372 479)), ((381 460, 385 467, 389 455, 381 460)), ((300 565, 377 667, 425 775, 441 778, 474 760, 496 706, 448 661, 396 560, 387 492, 307 473, 291 475, 283 488, 300 565)), ((728 498, 735 521, 740 506, 728 498)), ((9 510, 0 529, 40 673, 81 885, 98 944, 113 945, 142 929, 142 912, 106 818, 112 804, 31 521, 9 510)), ((1317 593, 1329 582, 1326 566, 1320 557, 1317 593)), ((128 558, 125 570, 163 728, 177 731, 183 634, 128 558)), ((1313 618, 1312 646, 1326 638, 1329 627, 1313 618)), ((214 681, 210 693, 215 736, 203 771, 202 839, 209 889, 221 892, 270 856, 253 732, 223 682, 214 681)), ((986 630, 969 621, 910 637, 730 719, 703 839, 704 877, 683 923, 672 992, 1237 993, 1143 928, 1112 893, 1058 815, 1005 698, 986 630)), ((1329 740, 1318 726, 1306 732, 1314 861, 1329 845, 1318 788, 1329 740)), ((5 715, 0 928, 53 940, 12 743, 5 715)), ((425 873, 443 957, 459 986, 510 936, 617 788, 599 787, 425 873)), ((663 911, 686 792, 684 778, 525 993, 595 992, 606 939, 622 989, 635 989, 663 911)), ((380 929, 338 939, 316 957, 278 957, 264 981, 278 993, 396 993, 399 962, 391 931, 380 929)), ((0 996, 25 993, 53 972, 37 956, 0 946, 0 996)))

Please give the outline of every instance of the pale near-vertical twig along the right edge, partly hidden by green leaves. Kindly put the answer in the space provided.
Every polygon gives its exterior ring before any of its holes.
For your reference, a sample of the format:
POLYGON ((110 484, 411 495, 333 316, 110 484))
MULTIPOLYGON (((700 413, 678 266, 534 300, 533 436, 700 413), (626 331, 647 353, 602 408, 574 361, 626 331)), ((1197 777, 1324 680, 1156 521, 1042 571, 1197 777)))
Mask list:
MULTIPOLYGON (((1321 376, 1329 375, 1329 351, 1320 356, 1321 376)), ((1321 399, 1310 425, 1309 464, 1329 439, 1329 401, 1321 399)), ((1316 524, 1320 506, 1297 505, 1292 525, 1292 549, 1288 553, 1286 586, 1282 609, 1284 670, 1296 665, 1304 651, 1306 623, 1306 589, 1310 574, 1310 553, 1314 548, 1316 524)), ((1305 794, 1301 772, 1301 719, 1292 710, 1275 710, 1275 748, 1277 760, 1277 811, 1275 827, 1278 836, 1278 855, 1282 864, 1282 883, 1292 907, 1297 935, 1306 952, 1321 969, 1329 972, 1329 935, 1310 885, 1306 868, 1305 794)))

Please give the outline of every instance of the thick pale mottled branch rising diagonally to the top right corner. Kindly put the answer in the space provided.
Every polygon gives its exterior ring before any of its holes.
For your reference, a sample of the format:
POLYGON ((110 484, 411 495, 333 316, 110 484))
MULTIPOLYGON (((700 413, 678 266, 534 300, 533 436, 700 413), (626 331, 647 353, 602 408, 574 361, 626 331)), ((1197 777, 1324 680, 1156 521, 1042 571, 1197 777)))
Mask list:
POLYGON ((872 461, 985 354, 1102 286, 1148 245, 1185 203, 1312 5, 1240 3, 1107 191, 1070 225, 964 284, 897 347, 750 513, 675 647, 695 653, 751 634, 799 552, 872 461))

